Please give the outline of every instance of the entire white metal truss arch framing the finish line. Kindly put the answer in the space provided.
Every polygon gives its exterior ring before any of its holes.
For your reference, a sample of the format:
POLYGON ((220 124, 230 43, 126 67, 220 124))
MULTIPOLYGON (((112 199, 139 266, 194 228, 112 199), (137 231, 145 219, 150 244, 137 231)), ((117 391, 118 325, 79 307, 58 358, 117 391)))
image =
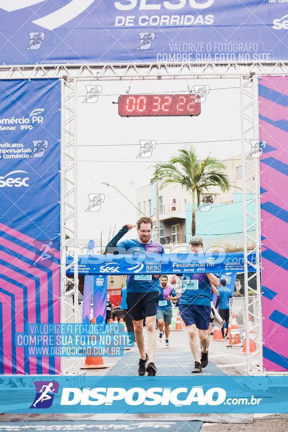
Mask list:
MULTIPOLYGON (((176 79, 215 79, 238 78, 240 80, 241 103, 241 140, 242 140, 242 178, 243 178, 243 233, 244 233, 244 284, 245 284, 245 325, 247 347, 247 375, 263 374, 262 361, 262 293, 260 279, 260 217, 259 217, 259 159, 248 162, 245 143, 250 139, 259 139, 258 81, 259 75, 288 75, 288 61, 274 63, 130 63, 130 64, 67 64, 67 65, 17 65, 0 66, 0 80, 14 79, 61 79, 61 322, 79 322, 78 316, 78 227, 77 227, 77 81, 108 80, 176 80, 176 79), (247 167, 247 175, 245 175, 247 167), (254 178, 253 187, 248 182, 254 178), (253 198, 246 201, 246 193, 253 198), (255 205, 255 215, 247 206, 255 205), (253 223, 247 226, 247 220, 253 223), (255 228, 255 239, 249 230, 255 228), (66 240, 66 234, 70 239, 66 240), (247 249, 248 240, 256 243, 252 251, 247 249), (66 266, 66 248, 74 250, 74 260, 66 266), (250 256, 254 252, 257 262, 252 263, 250 256), (248 277, 248 264, 256 271, 248 277), (74 265, 74 306, 67 300, 65 293, 66 270, 74 265), (256 278, 256 290, 249 282, 256 278), (254 307, 248 307, 248 291, 255 295, 254 307), (252 312, 255 311, 257 315, 252 312), (253 318, 254 335, 249 335, 249 316, 253 318), (257 351, 249 353, 249 340, 256 343, 257 351), (255 367, 252 357, 259 354, 259 367, 255 367)), ((251 182, 250 182, 251 183, 251 182)), ((70 279, 71 280, 71 279, 70 279)), ((249 303, 250 304, 250 303, 249 303)), ((266 374, 266 372, 264 372, 266 374)), ((61 374, 79 374, 78 358, 61 359, 61 374), (74 369, 74 370, 73 370, 74 369)))

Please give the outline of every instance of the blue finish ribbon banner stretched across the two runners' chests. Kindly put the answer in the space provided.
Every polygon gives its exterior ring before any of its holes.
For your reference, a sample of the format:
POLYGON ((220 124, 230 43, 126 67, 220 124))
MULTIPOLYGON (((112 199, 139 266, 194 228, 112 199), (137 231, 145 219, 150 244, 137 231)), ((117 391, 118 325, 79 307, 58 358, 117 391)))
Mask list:
MULTIPOLYGON (((140 254, 133 255, 79 255, 79 274, 177 274, 177 273, 220 273, 244 271, 243 253, 205 253, 205 254, 140 254)), ((67 256, 69 264, 73 258, 67 256)), ((249 259, 256 264, 255 254, 249 259)), ((248 271, 255 271, 248 265, 248 271)), ((74 267, 67 270, 74 274, 74 267)))

